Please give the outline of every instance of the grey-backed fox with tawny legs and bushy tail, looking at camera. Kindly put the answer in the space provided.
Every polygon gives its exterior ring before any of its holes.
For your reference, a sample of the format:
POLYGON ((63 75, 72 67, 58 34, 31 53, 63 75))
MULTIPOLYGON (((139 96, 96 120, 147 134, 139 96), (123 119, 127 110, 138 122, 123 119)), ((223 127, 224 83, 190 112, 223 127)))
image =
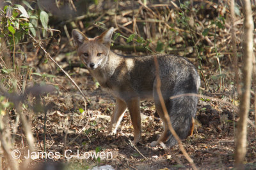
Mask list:
POLYGON ((180 139, 186 139, 193 132, 194 117, 198 98, 180 94, 197 94, 200 87, 200 76, 196 67, 186 58, 170 54, 154 54, 146 56, 125 56, 110 50, 111 27, 95 38, 88 38, 77 29, 72 30, 72 38, 79 59, 95 78, 100 87, 112 94, 115 108, 111 115, 108 134, 116 134, 116 130, 128 109, 131 116, 134 139, 132 143, 141 141, 140 101, 152 100, 156 111, 163 121, 163 133, 150 146, 165 143, 169 148, 177 144, 177 140, 168 129, 168 120, 164 117, 163 108, 157 94, 156 66, 159 65, 161 93, 173 129, 180 139), (173 97, 172 96, 178 96, 173 97))

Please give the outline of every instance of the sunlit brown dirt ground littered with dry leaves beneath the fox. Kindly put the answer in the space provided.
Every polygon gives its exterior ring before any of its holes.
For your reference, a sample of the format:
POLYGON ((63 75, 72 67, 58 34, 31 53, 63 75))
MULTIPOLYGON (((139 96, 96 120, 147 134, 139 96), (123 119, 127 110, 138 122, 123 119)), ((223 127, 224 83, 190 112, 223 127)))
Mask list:
MULTIPOLYGON (((68 57, 79 60, 76 53, 68 57)), ((65 60, 60 61, 60 64, 65 64, 65 60)), ((45 64, 42 70, 47 70, 47 67, 45 64)), ((133 131, 128 111, 116 135, 107 136, 104 132, 109 125, 115 99, 102 91, 86 69, 75 67, 70 73, 73 73, 73 80, 83 90, 88 101, 84 101, 79 91, 63 73, 58 72, 55 78, 47 80, 47 83, 56 85, 59 89, 44 97, 45 103, 51 106, 47 111, 46 150, 63 155, 60 158, 47 159, 47 162, 54 163, 57 167, 60 165, 56 163, 61 162, 62 166, 68 166, 69 169, 92 169, 94 166, 104 165, 111 165, 115 169, 191 169, 191 164, 180 152, 178 145, 168 150, 164 150, 161 146, 153 148, 148 146, 163 132, 162 121, 157 116, 152 101, 141 103, 142 141, 134 146, 131 143, 133 131), (75 156, 67 159, 64 156, 66 150, 68 155, 75 156), (78 159, 77 150, 81 157, 86 152, 111 153, 111 157, 78 159)), ((232 73, 227 71, 226 74, 232 73)), ((42 78, 33 75, 33 80, 36 79, 39 82, 42 78)), ((210 83, 214 85, 213 81, 210 83)), ((236 105, 238 103, 233 101, 232 88, 230 85, 222 92, 205 92, 203 88, 200 89, 199 94, 214 97, 214 99, 199 99, 194 133, 182 141, 198 169, 232 169, 234 167, 234 125, 237 122, 236 105)), ((28 113, 28 116, 33 120, 32 127, 33 134, 36 134, 37 151, 42 152, 44 150, 44 114, 28 113)), ((249 118, 251 123, 248 124, 246 165, 248 169, 256 169, 256 138, 255 129, 252 126, 255 118, 252 111, 249 118)), ((24 145, 26 146, 21 140, 16 148, 26 155, 27 148, 24 148, 24 145)), ((32 164, 42 162, 44 159, 38 158, 33 160, 32 164)))

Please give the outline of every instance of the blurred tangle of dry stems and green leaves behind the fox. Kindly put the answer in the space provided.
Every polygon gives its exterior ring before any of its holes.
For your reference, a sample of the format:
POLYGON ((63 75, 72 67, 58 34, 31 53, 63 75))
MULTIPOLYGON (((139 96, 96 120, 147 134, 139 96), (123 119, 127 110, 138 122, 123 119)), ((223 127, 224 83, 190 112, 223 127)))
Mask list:
MULTIPOLYGON (((2 0, 0 115, 15 115, 13 108, 17 103, 23 103, 21 112, 44 110, 44 104, 39 106, 36 97, 26 102, 20 96, 35 84, 51 83, 57 90, 65 89, 56 81, 56 76, 63 76, 63 72, 53 60, 74 76, 76 67, 84 67, 76 57, 71 30, 79 29, 88 37, 94 37, 109 27, 116 29, 111 46, 115 52, 184 56, 200 73, 201 94, 229 92, 237 106, 234 84, 241 80, 244 16, 243 4, 240 0, 235 2, 234 43, 230 1, 225 0, 2 0), (6 92, 14 98, 3 97, 6 92)), ((256 1, 251 2, 256 23, 256 1)), ((51 91, 49 87, 41 89, 42 93, 51 91)), ((28 92, 33 93, 33 89, 28 92)), ((4 133, 4 124, 7 122, 1 119, 0 132, 8 136, 4 133)), ((13 129, 17 131, 17 127, 13 129)))

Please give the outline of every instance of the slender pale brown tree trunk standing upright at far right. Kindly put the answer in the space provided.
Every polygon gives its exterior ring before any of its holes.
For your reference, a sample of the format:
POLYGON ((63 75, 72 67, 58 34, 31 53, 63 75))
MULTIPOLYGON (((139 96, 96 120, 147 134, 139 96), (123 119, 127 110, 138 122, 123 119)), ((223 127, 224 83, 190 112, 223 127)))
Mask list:
POLYGON ((237 122, 235 166, 243 168, 246 154, 247 118, 250 108, 250 90, 252 81, 252 56, 253 56, 253 18, 250 0, 243 0, 244 5, 244 55, 243 55, 243 79, 239 106, 239 121, 237 122))

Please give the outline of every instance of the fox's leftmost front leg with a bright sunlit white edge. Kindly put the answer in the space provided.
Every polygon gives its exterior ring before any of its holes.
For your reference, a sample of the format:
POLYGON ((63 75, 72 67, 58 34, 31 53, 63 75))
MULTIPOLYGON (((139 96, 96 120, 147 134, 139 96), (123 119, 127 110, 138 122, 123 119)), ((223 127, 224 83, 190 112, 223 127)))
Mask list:
POLYGON ((124 113, 127 110, 127 106, 121 99, 116 99, 115 109, 111 116, 111 122, 108 128, 108 134, 115 134, 120 122, 124 117, 124 113))

